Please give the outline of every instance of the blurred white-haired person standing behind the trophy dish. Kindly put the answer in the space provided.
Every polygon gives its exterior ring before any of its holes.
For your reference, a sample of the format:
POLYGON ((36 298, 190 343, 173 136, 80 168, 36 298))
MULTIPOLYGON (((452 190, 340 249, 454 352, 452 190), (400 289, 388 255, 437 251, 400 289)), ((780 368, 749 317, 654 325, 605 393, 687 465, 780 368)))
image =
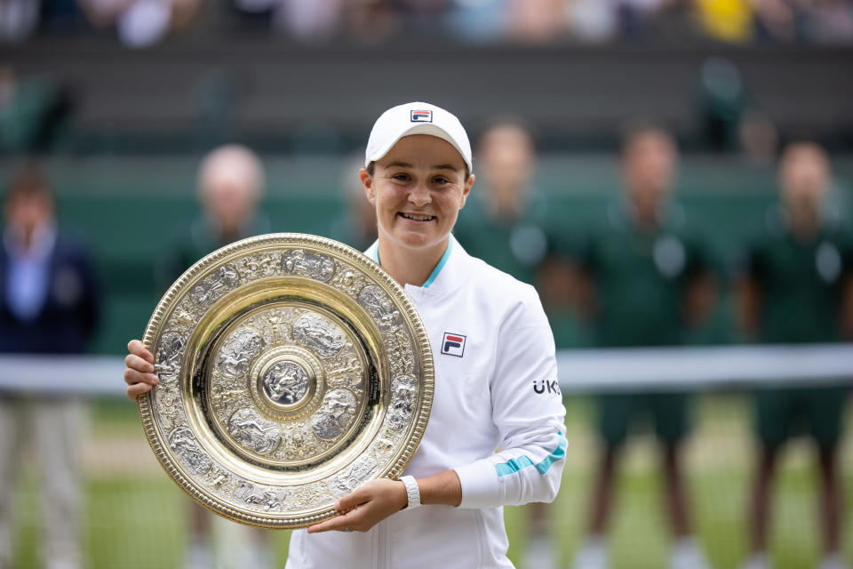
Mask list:
MULTIPOLYGON (((181 228, 173 245, 155 266, 161 292, 196 260, 220 247, 271 231, 266 214, 259 211, 265 187, 264 167, 249 148, 226 145, 204 156, 198 169, 197 196, 201 215, 181 228)), ((187 569, 223 569, 274 566, 267 533, 213 516, 189 502, 190 536, 187 569), (220 535, 221 534, 221 535, 220 535), (214 535, 221 539, 214 539, 214 535), (243 543, 251 541, 251 545, 243 543)))

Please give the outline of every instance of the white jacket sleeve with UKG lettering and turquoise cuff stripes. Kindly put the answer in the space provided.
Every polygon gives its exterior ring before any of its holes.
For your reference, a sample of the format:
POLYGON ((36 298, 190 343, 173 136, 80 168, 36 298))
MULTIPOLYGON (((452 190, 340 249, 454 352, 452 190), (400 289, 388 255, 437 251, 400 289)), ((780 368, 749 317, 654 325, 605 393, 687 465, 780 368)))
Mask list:
POLYGON ((554 336, 530 286, 498 330, 490 397, 500 450, 454 469, 462 485, 459 507, 553 501, 565 463, 566 412, 554 336))

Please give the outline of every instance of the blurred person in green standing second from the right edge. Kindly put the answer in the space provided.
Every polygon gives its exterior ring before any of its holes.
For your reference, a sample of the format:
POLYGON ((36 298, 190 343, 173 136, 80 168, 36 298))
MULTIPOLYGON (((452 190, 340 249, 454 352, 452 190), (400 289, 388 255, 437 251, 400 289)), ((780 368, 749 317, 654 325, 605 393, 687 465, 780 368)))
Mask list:
MULTIPOLYGON (((670 200, 678 148, 653 125, 626 134, 621 157, 624 201, 608 212, 597 232, 568 251, 577 267, 574 287, 581 310, 606 348, 673 346, 709 317, 716 280, 706 248, 684 227, 682 211, 670 200)), ((613 483, 631 422, 649 415, 662 450, 666 514, 674 537, 669 566, 701 569, 705 557, 692 537, 681 464, 689 431, 688 396, 683 393, 619 393, 598 400, 602 454, 594 477, 588 536, 574 565, 608 565, 605 533, 613 483)))

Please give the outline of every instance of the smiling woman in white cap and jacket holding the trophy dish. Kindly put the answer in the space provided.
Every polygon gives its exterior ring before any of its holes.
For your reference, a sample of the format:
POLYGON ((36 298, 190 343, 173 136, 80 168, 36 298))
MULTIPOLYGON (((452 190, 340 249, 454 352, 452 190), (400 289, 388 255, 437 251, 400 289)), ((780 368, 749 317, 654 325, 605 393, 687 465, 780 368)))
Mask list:
MULTIPOLYGON (((511 567, 501 507, 554 500, 565 456, 545 313, 530 285, 469 256, 450 233, 474 184, 456 116, 422 102, 388 109, 364 166, 379 228, 366 254, 424 320, 434 403, 404 476, 362 485, 336 504, 339 516, 294 532, 287 567, 511 567)), ((128 349, 135 399, 157 378, 141 342, 128 349)))

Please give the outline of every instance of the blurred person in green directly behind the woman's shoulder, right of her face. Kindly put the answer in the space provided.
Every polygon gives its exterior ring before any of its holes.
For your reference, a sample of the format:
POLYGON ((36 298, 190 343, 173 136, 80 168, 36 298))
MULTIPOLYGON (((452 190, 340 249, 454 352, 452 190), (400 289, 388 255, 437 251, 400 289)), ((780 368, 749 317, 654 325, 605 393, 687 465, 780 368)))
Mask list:
POLYGON ((547 203, 534 186, 533 139, 521 123, 504 120, 491 125, 478 142, 477 183, 455 235, 474 257, 535 284, 547 252, 547 203))

